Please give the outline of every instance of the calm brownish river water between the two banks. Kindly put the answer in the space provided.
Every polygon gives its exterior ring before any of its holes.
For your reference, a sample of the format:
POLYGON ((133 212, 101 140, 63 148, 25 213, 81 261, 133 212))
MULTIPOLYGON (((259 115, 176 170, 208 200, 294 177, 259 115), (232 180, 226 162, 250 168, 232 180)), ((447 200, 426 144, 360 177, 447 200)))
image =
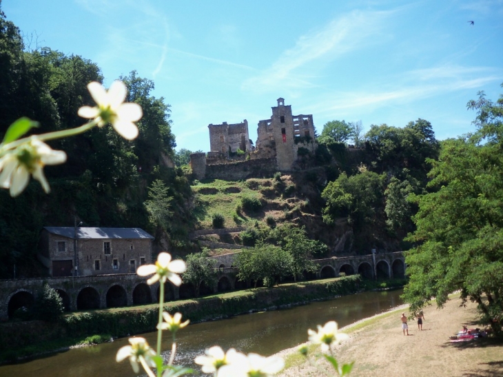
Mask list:
MULTIPOLYGON (((335 300, 311 303, 291 309, 236 316, 225 320, 189 325, 178 332, 176 364, 192 365, 192 360, 213 345, 224 350, 231 347, 269 356, 307 341, 307 329, 316 329, 329 320, 339 327, 349 325, 391 307, 402 305, 402 289, 391 292, 365 292, 335 300)), ((143 334, 150 345, 156 344, 156 333, 143 334)), ((170 348, 171 336, 165 333, 163 349, 170 348)), ((37 377, 128 377, 137 376, 130 363, 115 362, 115 354, 127 338, 113 343, 71 349, 27 363, 0 367, 0 376, 37 377)), ((163 355, 167 358, 169 355, 163 355)))

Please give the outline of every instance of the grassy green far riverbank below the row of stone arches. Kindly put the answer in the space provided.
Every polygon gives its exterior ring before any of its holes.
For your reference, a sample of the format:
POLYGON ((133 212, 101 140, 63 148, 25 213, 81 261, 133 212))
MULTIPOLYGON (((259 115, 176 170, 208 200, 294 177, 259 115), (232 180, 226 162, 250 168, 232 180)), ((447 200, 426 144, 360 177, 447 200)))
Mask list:
MULTIPOLYGON (((399 287, 404 281, 362 281, 359 275, 302 281, 272 288, 246 289, 165 303, 164 310, 181 312, 192 323, 238 314, 302 305, 315 300, 373 289, 399 287)), ((0 325, 0 363, 71 347, 95 334, 114 338, 155 331, 158 305, 100 309, 64 316, 58 324, 30 321, 0 325), (68 337, 72 334, 72 338, 68 337)))

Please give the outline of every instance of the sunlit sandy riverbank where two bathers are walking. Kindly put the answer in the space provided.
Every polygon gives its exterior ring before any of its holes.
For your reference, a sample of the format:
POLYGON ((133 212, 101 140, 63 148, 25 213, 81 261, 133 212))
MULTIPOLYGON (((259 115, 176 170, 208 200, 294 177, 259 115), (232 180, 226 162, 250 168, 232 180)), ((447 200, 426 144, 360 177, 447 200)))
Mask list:
MULTIPOLYGON (((409 315, 407 307, 371 320, 364 327, 346 327, 350 339, 338 347, 336 358, 344 363, 355 360, 351 377, 503 376, 503 343, 490 339, 450 342, 449 336, 462 325, 476 327, 475 305, 460 307, 460 303, 459 298, 453 298, 444 309, 436 309, 435 304, 427 307, 422 331, 415 320, 409 320, 409 336, 403 336, 400 323, 402 312, 409 315)), ((280 354, 288 358, 295 353, 296 349, 288 349, 280 354)), ((305 363, 290 367, 280 376, 323 375, 305 363)))

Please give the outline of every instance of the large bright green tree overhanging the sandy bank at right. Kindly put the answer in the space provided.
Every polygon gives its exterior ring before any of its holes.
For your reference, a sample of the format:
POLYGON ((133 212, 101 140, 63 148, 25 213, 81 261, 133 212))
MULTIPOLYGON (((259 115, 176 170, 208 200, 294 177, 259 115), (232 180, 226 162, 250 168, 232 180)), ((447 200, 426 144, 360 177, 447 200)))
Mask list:
POLYGON ((429 161, 428 194, 417 196, 417 229, 407 252, 409 283, 404 299, 411 311, 460 289, 478 304, 482 322, 501 334, 503 319, 503 96, 497 103, 479 93, 468 107, 478 110, 471 137, 442 143, 429 161))

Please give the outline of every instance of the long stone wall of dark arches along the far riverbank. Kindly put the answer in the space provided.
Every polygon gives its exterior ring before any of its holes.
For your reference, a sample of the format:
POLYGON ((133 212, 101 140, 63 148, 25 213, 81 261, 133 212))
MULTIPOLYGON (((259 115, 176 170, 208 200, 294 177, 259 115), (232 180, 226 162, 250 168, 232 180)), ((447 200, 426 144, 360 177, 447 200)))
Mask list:
MULTIPOLYGON (((232 265, 232 254, 215 257, 218 261, 216 282, 212 287, 201 284, 200 294, 213 294, 233 289, 245 289, 251 282, 236 278, 238 269, 232 265)), ((360 274, 364 278, 398 278, 405 273, 401 252, 318 259, 320 269, 306 273, 304 278, 330 278, 360 274)), ((125 307, 158 303, 159 284, 147 285, 147 279, 136 274, 110 274, 60 278, 30 278, 0 281, 0 319, 12 318, 20 307, 31 307, 46 283, 56 289, 67 311, 125 307)), ((176 287, 167 283, 165 301, 194 297, 192 284, 176 287)))

